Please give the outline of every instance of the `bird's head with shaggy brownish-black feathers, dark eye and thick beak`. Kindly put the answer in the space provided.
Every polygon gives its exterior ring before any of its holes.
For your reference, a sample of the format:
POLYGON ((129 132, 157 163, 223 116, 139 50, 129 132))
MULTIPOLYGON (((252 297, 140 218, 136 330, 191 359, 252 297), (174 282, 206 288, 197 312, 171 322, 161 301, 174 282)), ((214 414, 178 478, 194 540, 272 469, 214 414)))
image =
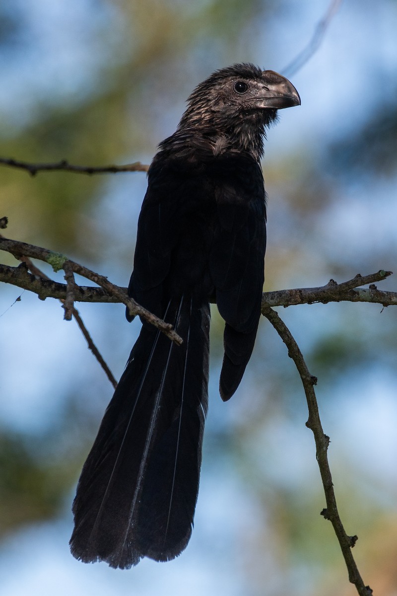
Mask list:
POLYGON ((233 145, 262 153, 265 126, 277 119, 277 110, 300 105, 292 83, 273 70, 254 64, 235 64, 214 72, 189 97, 179 129, 194 128, 226 135, 233 145))

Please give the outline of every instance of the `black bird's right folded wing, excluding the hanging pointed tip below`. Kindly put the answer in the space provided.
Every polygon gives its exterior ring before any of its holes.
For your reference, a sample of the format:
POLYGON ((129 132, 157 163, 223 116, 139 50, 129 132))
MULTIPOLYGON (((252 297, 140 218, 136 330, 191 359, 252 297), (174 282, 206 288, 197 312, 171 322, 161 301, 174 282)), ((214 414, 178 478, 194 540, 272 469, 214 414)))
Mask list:
POLYGON ((218 225, 210 253, 221 316, 237 331, 256 327, 264 281, 265 192, 249 156, 224 157, 215 187, 218 225))

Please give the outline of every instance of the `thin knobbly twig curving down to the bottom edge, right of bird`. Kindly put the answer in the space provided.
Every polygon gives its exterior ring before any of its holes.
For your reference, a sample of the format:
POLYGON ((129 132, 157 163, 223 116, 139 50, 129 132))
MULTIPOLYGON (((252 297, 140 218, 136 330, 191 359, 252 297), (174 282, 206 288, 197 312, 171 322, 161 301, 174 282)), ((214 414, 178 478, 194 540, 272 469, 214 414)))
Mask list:
POLYGON ((316 457, 318 467, 320 468, 321 480, 323 481, 324 494, 326 497, 327 508, 321 511, 321 515, 333 525, 337 539, 339 541, 340 549, 342 550, 343 558, 345 559, 346 567, 349 573, 349 582, 356 586, 360 596, 371 596, 373 593, 370 586, 365 586, 362 581, 357 564, 355 563, 351 549, 357 542, 357 536, 348 536, 340 520, 339 512, 337 510, 335 492, 333 490, 332 476, 329 467, 327 449, 330 443, 329 437, 324 434, 321 426, 320 415, 318 413, 317 399, 315 397, 314 385, 317 383, 317 378, 312 376, 304 361, 301 350, 298 344, 293 339, 292 334, 280 319, 277 312, 271 308, 264 309, 264 316, 271 322, 277 333, 286 344, 288 355, 295 362, 298 373, 301 377, 304 386, 307 405, 309 410, 309 417, 306 426, 312 430, 315 440, 316 457))

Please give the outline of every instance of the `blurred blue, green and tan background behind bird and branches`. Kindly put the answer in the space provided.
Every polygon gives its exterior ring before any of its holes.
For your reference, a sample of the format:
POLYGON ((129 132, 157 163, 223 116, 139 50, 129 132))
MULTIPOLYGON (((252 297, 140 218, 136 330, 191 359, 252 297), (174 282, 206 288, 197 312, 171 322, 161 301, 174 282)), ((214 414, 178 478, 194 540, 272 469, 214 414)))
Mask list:
MULTIPOLYGON (((0 155, 149 163, 189 92, 252 61, 289 75, 328 0, 2 0, 0 155)), ((268 132, 265 289, 397 269, 397 3, 345 0, 290 78, 302 106, 268 132)), ((5 235, 64 252, 127 285, 145 173, 0 170, 5 235)), ((3 253, 3 262, 16 264, 3 253)), ((47 271, 53 275, 51 271, 47 271)), ((62 276, 55 276, 62 281, 62 276)), ((396 290, 395 279, 379 284, 396 290)), ((55 300, 0 288, 0 594, 340 596, 355 593, 324 496, 307 407, 285 346, 262 321, 229 403, 210 412, 195 529, 177 560, 130 571, 71 557, 71 501, 112 387, 55 300), (21 300, 15 302, 18 296, 21 300)), ((139 323, 81 305, 119 377, 139 323)), ((397 317, 392 307, 279 309, 317 375, 340 514, 366 583, 397 594, 397 317)))

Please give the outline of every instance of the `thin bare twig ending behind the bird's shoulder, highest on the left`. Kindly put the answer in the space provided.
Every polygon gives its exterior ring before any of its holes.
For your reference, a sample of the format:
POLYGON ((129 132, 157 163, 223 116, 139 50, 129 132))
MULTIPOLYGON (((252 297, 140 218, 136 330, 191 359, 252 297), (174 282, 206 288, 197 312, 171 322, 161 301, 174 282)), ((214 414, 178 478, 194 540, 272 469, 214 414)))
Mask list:
POLYGON ((140 163, 127 163, 123 166, 73 166, 67 160, 62 159, 56 163, 28 163, 13 159, 12 157, 0 157, 0 165, 8 167, 16 167, 21 170, 26 170, 31 176, 36 176, 37 172, 74 172, 77 174, 109 174, 118 172, 147 172, 149 166, 140 163))

